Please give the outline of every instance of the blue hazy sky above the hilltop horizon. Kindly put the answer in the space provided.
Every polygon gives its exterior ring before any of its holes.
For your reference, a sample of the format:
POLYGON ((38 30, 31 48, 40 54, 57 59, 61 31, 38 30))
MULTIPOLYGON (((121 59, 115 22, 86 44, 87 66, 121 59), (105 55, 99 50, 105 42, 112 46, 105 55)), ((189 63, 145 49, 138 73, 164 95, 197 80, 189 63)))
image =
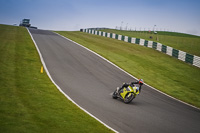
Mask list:
POLYGON ((0 0, 0 24, 24 18, 46 30, 154 28, 200 36, 200 0, 0 0))

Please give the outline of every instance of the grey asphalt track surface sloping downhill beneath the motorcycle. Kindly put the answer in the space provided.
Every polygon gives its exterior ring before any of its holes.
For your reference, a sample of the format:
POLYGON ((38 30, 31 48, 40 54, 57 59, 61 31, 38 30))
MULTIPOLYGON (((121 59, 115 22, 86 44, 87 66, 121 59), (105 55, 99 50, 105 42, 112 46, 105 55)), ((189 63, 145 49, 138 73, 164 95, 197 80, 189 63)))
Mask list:
POLYGON ((50 31, 29 29, 58 86, 78 105, 121 133, 200 133, 200 110, 148 86, 130 104, 110 95, 131 76, 50 31))

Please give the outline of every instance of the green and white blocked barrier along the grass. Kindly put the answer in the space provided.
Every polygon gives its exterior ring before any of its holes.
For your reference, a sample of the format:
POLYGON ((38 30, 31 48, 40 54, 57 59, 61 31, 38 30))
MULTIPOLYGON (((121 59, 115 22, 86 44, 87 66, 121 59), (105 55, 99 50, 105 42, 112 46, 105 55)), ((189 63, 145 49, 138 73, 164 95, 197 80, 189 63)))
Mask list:
POLYGON ((104 36, 104 37, 108 37, 108 38, 113 38, 113 39, 129 42, 129 43, 139 44, 139 45, 149 47, 149 48, 153 48, 155 50, 158 50, 160 52, 163 52, 167 55, 173 56, 179 60, 182 60, 186 63, 192 64, 192 65, 200 68, 200 57, 199 56, 191 55, 184 51, 177 50, 177 49, 174 49, 169 46, 165 46, 158 42, 148 41, 148 40, 144 40, 144 39, 140 39, 140 38, 128 37, 128 36, 124 36, 124 35, 118 35, 115 33, 107 33, 107 32, 97 31, 97 30, 93 30, 93 29, 83 29, 81 31, 90 33, 90 34, 94 34, 94 35, 99 35, 99 36, 104 36))

